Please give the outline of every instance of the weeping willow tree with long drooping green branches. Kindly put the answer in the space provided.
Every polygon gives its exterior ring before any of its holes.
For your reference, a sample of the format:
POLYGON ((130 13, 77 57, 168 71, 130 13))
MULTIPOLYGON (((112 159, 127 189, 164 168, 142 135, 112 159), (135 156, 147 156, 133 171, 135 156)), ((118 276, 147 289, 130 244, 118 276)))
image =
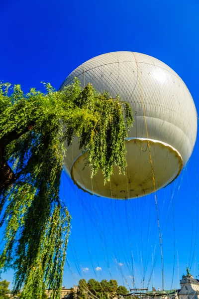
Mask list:
POLYGON ((0 267, 14 269, 14 291, 41 299, 44 289, 58 299, 71 217, 59 198, 64 143, 75 136, 92 176, 104 183, 112 166, 124 174, 124 138, 133 118, 129 104, 77 79, 62 91, 44 84, 24 94, 20 85, 0 85, 0 225, 4 228, 0 267))

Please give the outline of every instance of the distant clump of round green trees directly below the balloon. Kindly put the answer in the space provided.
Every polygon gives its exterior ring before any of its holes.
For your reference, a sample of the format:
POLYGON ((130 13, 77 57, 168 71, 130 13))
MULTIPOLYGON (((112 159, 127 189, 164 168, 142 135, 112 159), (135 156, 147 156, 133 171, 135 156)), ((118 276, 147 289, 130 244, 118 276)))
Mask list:
POLYGON ((127 295, 129 292, 123 286, 117 285, 116 280, 102 280, 101 282, 95 279, 90 279, 88 283, 85 279, 79 281, 79 290, 77 293, 78 299, 113 299, 118 294, 127 295))

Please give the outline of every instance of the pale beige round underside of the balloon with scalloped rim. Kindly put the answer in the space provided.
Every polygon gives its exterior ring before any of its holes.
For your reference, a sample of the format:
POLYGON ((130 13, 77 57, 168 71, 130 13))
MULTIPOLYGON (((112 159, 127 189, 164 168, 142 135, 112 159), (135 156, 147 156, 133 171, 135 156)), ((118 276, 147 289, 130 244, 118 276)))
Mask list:
POLYGON ((113 174, 105 185, 101 170, 91 179, 91 167, 85 166, 86 151, 73 161, 70 176, 74 183, 92 195, 133 199, 166 187, 183 168, 180 152, 167 143, 146 138, 127 138, 125 146, 126 175, 119 174, 118 167, 113 166, 113 174))

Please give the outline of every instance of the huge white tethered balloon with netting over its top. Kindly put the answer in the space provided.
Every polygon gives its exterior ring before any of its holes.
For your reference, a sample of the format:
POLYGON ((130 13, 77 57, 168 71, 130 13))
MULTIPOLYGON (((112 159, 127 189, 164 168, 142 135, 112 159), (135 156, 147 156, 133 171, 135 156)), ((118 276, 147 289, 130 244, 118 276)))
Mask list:
POLYGON ((109 91, 130 103, 134 123, 125 140, 126 175, 113 167, 104 185, 99 170, 91 180, 84 168, 86 153, 77 140, 67 148, 65 170, 83 190, 98 196, 127 199, 143 196, 170 184, 190 158, 197 136, 197 112, 183 80, 160 60, 135 52, 112 52, 76 68, 61 89, 77 77, 99 92, 109 91), (151 157, 151 159, 150 159, 151 157), (154 179, 153 179, 154 173, 154 179))

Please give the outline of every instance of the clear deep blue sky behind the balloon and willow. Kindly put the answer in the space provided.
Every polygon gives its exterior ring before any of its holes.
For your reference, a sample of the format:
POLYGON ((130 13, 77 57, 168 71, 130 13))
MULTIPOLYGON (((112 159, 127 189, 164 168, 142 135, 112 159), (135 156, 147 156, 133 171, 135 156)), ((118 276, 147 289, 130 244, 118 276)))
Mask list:
MULTIPOLYGON (((20 83, 25 92, 30 87, 41 89, 40 81, 51 82, 58 89, 71 71, 96 55, 137 51, 172 67, 187 84, 198 110, 198 15, 197 0, 1 0, 0 80, 20 83)), ((192 264, 192 272, 199 275, 198 156, 197 141, 186 171, 157 193, 165 289, 171 287, 174 264, 173 288, 178 288, 186 264, 192 264)), ((91 197, 63 174, 61 196, 73 217, 67 255, 70 267, 66 264, 63 285, 71 287, 84 277, 113 278, 132 287, 129 276, 134 275, 136 287, 141 287, 143 276, 147 286, 153 254, 150 288, 152 284, 161 287, 153 195, 128 202, 91 197), (102 270, 94 271, 96 267, 102 270), (83 268, 89 270, 83 272, 83 268)), ((3 277, 11 281, 12 272, 3 277)))

